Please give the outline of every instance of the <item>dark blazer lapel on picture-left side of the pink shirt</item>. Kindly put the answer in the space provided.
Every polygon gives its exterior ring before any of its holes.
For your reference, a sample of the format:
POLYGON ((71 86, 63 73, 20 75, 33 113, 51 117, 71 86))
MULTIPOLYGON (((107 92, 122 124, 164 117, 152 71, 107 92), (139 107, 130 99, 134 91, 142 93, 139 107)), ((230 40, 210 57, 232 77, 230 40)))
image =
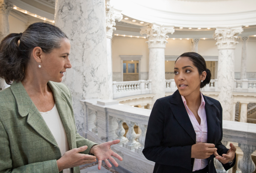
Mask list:
POLYGON ((174 114, 174 117, 196 143, 196 134, 194 127, 190 121, 189 115, 187 114, 186 108, 178 90, 175 91, 174 94, 172 94, 170 102, 173 104, 171 106, 171 110, 174 114))

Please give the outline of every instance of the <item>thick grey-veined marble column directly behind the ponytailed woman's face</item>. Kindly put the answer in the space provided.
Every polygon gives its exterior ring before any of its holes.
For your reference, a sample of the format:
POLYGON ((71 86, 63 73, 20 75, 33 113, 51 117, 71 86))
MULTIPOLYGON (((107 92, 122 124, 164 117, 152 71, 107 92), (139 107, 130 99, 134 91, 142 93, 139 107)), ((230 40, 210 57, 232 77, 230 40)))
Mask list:
POLYGON ((69 86, 78 131, 84 128, 84 97, 109 99, 105 0, 57 0, 55 25, 69 36, 70 62, 63 83, 69 86))

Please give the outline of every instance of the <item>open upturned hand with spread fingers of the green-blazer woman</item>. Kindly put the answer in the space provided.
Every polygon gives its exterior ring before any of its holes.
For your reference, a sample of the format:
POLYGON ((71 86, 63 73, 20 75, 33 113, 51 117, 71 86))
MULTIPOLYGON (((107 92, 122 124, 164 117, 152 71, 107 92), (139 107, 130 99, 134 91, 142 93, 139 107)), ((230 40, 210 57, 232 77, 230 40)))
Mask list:
POLYGON ((112 165, 110 164, 108 159, 114 164, 115 167, 118 167, 118 163, 111 156, 116 157, 120 161, 122 161, 123 158, 121 156, 119 156, 117 153, 113 152, 111 150, 110 146, 114 145, 114 144, 118 144, 119 142, 120 142, 120 140, 114 140, 114 141, 101 143, 99 145, 95 145, 95 146, 91 147, 90 153, 94 154, 94 156, 96 156, 96 158, 99 161, 99 164, 98 164, 98 169, 99 170, 101 169, 101 163, 102 163, 103 160, 108 165, 108 167, 112 167, 112 165))

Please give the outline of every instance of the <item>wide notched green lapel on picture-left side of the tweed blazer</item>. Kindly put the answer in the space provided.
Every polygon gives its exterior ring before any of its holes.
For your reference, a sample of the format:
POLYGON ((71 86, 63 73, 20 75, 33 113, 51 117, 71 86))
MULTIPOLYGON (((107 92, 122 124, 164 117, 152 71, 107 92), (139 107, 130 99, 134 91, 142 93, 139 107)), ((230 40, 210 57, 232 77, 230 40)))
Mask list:
POLYGON ((49 141, 54 146, 58 147, 58 144, 56 143, 52 132, 50 131, 37 107, 30 99, 22 83, 13 82, 10 88, 15 97, 20 116, 27 116, 27 123, 44 139, 49 141))

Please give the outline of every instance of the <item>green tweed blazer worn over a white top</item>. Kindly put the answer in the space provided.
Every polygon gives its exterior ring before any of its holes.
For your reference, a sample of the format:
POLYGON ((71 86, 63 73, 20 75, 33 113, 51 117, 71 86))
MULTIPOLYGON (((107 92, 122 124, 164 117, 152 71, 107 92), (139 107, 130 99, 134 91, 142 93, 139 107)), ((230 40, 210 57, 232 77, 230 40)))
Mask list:
MULTIPOLYGON (((48 82, 64 125, 70 150, 96 143, 76 131, 69 88, 63 83, 48 82)), ((43 117, 21 82, 13 82, 0 91, 0 173, 58 173, 56 160, 61 152, 43 117)), ((62 172, 62 171, 61 171, 62 172)), ((80 173, 79 167, 73 173, 80 173)))

